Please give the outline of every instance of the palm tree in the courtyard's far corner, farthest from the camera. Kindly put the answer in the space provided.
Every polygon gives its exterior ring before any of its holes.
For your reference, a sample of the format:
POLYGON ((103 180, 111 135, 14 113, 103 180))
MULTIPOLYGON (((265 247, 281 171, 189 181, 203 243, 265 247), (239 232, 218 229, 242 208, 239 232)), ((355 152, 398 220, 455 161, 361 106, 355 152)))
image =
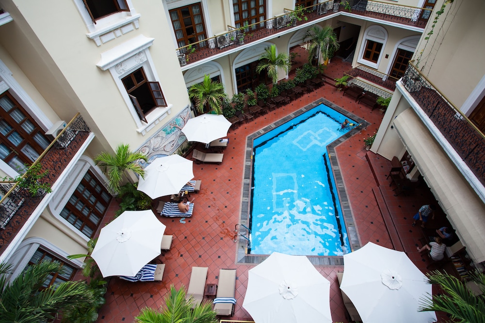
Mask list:
POLYGON ((312 62, 314 57, 322 57, 326 65, 340 46, 332 26, 313 26, 307 30, 303 39, 308 40, 308 62, 312 62))

